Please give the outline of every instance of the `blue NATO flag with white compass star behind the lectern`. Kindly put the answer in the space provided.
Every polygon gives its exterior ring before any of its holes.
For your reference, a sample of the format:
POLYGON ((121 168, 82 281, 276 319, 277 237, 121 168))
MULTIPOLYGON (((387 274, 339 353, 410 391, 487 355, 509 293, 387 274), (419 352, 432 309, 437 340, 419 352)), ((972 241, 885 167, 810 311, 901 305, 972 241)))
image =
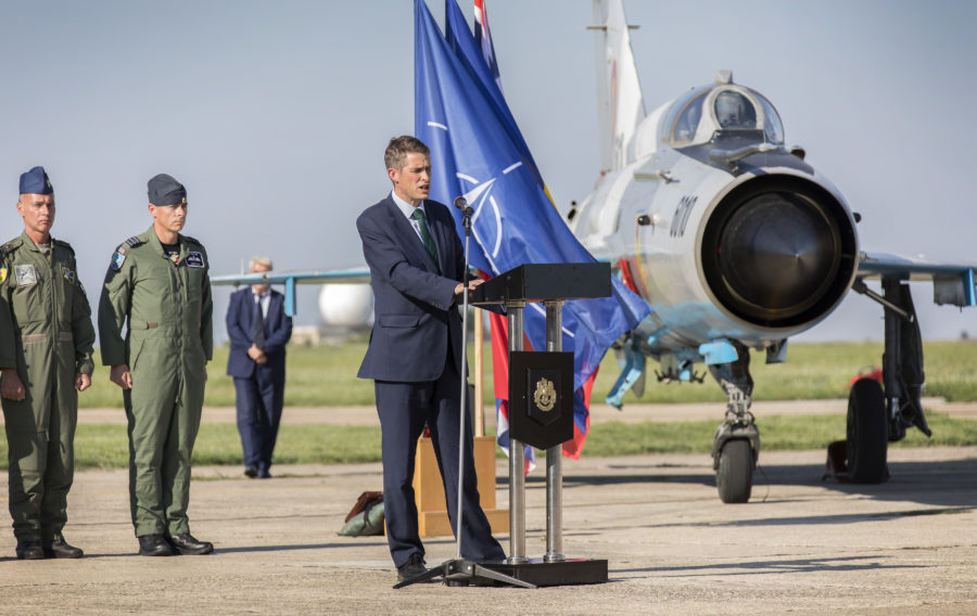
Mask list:
MULTIPOLYGON (((415 0, 415 133, 432 151, 431 198, 452 203, 464 195, 474 208, 470 261, 491 275, 526 262, 594 261, 546 195, 494 79, 484 81, 466 60, 461 41, 472 38, 470 31, 457 29, 459 52, 424 1, 415 0)), ((563 307, 562 348, 574 354, 574 389, 596 371, 611 343, 650 312, 620 281, 612 282, 612 297, 568 300, 563 307)), ((545 348, 543 306, 526 306, 523 326, 532 347, 545 348)))

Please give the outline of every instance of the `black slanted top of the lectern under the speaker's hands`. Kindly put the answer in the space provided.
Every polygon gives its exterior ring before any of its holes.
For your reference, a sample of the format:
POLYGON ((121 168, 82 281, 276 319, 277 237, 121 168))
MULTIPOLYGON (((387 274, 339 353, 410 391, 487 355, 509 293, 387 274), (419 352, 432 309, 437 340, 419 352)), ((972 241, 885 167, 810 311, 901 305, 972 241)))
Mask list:
POLYGON ((507 301, 546 301, 610 297, 610 264, 523 264, 471 292, 474 306, 507 301))

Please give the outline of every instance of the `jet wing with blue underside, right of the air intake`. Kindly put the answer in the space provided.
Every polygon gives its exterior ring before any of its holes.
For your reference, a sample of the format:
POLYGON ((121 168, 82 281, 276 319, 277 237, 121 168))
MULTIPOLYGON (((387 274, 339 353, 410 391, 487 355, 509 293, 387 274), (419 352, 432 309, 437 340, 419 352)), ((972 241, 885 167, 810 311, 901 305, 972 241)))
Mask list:
POLYGON ((863 253, 858 278, 897 278, 900 280, 932 281, 936 304, 977 306, 975 288, 977 265, 934 264, 925 259, 900 257, 881 253, 863 253))

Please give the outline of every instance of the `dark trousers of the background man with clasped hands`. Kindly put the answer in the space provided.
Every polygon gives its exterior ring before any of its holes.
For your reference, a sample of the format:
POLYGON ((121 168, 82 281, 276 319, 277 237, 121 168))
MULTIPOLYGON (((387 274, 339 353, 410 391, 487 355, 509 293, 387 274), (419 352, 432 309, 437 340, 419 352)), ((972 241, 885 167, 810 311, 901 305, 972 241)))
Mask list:
POLYGON ((281 423, 284 374, 276 378, 270 369, 256 367, 250 378, 234 377, 234 392, 244 465, 267 471, 271 466, 271 453, 281 423))

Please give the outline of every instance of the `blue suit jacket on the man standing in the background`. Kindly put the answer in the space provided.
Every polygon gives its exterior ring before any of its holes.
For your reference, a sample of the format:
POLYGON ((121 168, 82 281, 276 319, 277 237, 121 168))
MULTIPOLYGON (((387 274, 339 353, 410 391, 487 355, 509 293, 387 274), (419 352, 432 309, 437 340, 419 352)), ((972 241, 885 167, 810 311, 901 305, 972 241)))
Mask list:
MULTIPOLYGON (((227 357, 227 373, 230 376, 250 378, 254 374, 257 364, 248 357, 248 349, 254 342, 252 333, 255 315, 257 311, 250 286, 231 294, 227 307, 227 335, 231 343, 230 354, 227 357)), ((268 356, 265 368, 271 370, 274 374, 281 374, 282 377, 286 343, 291 337, 292 318, 284 313, 284 296, 272 290, 268 313, 265 316, 265 355, 268 356)))

